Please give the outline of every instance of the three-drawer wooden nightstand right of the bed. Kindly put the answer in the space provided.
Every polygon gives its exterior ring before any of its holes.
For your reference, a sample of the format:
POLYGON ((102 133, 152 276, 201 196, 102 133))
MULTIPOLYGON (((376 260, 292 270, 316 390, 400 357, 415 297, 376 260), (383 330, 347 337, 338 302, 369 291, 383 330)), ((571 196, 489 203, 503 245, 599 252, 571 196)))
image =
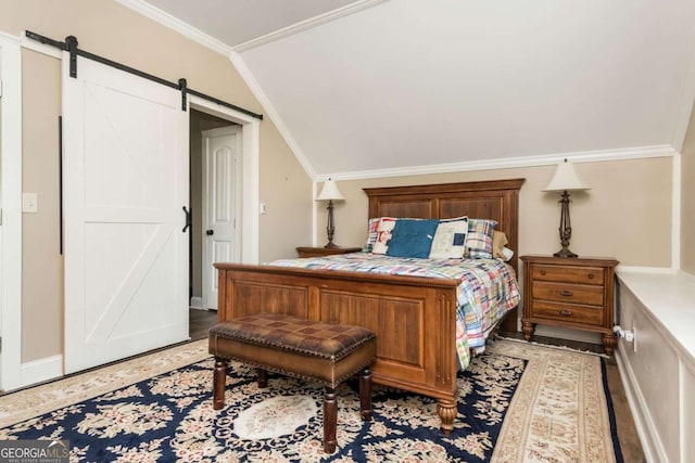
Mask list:
POLYGON ((614 276, 611 258, 559 258, 521 256, 523 261, 523 338, 536 323, 573 327, 603 334, 604 348, 612 355, 614 276))

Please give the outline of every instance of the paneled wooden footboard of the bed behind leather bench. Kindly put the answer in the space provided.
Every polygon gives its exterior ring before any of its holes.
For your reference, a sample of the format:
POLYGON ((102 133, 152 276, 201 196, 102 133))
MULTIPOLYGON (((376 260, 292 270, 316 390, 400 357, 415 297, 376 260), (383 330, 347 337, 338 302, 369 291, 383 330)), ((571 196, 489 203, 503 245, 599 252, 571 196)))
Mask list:
POLYGON ((374 382, 435 398, 442 430, 456 416, 456 280, 216 263, 218 321, 287 313, 377 334, 374 382))

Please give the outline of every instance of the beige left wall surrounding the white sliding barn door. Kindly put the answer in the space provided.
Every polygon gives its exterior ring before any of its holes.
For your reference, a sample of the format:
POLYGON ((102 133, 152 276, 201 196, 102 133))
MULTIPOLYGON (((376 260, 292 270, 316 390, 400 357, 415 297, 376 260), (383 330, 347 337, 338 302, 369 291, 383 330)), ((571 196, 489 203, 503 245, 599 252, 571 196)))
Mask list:
MULTIPOLYGON (((89 52, 256 113, 263 107, 228 59, 112 0, 0 0, 0 31, 64 40, 89 52)), ((62 352, 62 261, 58 253, 58 129, 60 64, 23 53, 24 191, 39 193, 39 213, 24 215, 22 361, 62 352)), ((294 255, 311 235, 312 183, 273 123, 261 123, 261 260, 294 255), (281 233, 280 233, 281 232, 281 233)))

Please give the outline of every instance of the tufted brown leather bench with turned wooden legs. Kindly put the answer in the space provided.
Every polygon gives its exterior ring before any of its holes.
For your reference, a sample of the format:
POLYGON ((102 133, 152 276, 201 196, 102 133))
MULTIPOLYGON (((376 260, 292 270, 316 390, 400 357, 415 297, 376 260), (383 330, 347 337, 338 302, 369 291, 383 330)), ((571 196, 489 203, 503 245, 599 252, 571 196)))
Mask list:
POLYGON ((359 404, 363 420, 371 419, 371 371, 376 335, 361 326, 258 313, 218 323, 210 330, 210 353, 215 356, 213 408, 225 404, 227 361, 257 368, 258 387, 267 386, 266 371, 314 381, 324 395, 324 451, 336 451, 338 401, 336 387, 362 372, 359 404))

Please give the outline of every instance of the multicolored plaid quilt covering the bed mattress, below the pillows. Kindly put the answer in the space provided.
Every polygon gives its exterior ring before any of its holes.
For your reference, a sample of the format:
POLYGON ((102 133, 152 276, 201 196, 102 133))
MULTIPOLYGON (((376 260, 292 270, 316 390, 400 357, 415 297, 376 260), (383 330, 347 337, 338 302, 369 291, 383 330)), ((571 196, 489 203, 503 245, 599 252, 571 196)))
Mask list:
POLYGON ((470 362, 470 349, 482 351, 490 330, 521 298, 516 278, 498 259, 419 259, 353 253, 281 259, 267 265, 459 280, 456 352, 463 370, 470 362))

